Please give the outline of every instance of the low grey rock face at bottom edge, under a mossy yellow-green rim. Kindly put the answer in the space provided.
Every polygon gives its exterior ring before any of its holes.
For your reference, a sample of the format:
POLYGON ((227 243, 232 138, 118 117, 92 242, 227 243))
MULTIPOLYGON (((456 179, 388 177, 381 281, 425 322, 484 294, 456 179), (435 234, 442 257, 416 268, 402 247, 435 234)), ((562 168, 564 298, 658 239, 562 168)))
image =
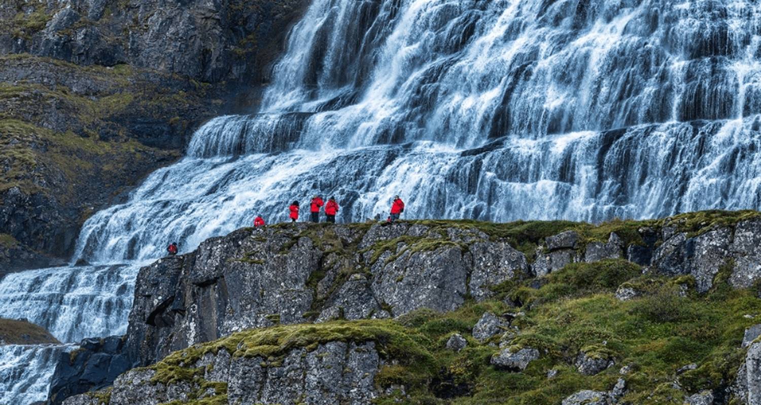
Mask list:
MULTIPOLYGON (((151 381, 153 370, 133 370, 116 378, 111 391, 112 405, 156 405, 189 397, 212 398, 218 389, 200 384, 221 385, 229 403, 304 403, 321 405, 361 405, 379 394, 374 378, 383 361, 374 343, 330 342, 317 349, 291 350, 276 364, 262 357, 233 357, 226 350, 207 354, 196 367, 203 370, 196 381, 164 384, 151 381), (199 384, 199 381, 200 384, 199 384)), ((88 395, 65 400, 65 405, 94 404, 88 395)))

